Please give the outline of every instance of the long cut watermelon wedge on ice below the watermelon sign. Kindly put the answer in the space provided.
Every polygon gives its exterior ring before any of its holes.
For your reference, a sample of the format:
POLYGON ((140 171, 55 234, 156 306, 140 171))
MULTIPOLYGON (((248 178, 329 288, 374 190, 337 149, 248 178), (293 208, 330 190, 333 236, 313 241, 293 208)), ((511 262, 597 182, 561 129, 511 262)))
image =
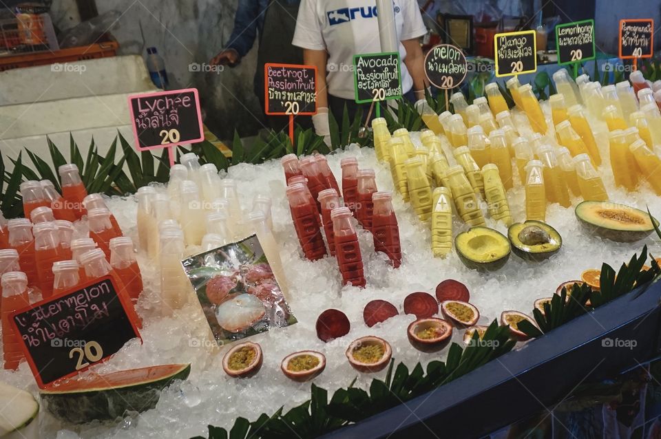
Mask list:
POLYGON ((162 389, 190 373, 189 364, 143 367, 71 378, 53 383, 40 394, 45 408, 60 420, 74 424, 114 420, 125 411, 153 409, 162 389))

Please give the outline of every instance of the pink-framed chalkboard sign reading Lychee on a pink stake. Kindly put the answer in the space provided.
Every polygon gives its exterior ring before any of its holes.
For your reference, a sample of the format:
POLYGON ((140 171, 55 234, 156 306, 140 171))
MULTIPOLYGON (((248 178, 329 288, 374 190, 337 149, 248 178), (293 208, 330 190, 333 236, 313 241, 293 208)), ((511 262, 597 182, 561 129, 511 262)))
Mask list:
POLYGON ((129 109, 136 149, 167 148, 170 165, 175 162, 175 147, 204 140, 197 89, 129 96, 129 109))

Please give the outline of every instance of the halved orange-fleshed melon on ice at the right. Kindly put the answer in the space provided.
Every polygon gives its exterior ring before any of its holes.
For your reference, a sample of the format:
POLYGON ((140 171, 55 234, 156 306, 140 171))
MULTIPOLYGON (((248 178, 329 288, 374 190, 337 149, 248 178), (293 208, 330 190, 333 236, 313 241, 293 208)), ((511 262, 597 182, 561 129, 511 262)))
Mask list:
POLYGON ((615 242, 640 241, 654 231, 647 212, 624 204, 585 201, 576 206, 576 217, 591 235, 615 242))

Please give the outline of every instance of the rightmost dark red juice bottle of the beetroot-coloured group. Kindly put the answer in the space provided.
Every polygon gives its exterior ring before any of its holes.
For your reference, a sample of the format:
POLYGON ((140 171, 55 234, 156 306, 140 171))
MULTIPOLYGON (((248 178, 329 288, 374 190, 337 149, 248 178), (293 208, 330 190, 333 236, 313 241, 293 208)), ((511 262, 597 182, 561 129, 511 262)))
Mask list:
POLYGON ((392 193, 375 192, 372 194, 374 215, 372 235, 374 250, 386 253, 394 268, 401 265, 401 243, 399 242, 399 224, 395 208, 392 207, 392 193))

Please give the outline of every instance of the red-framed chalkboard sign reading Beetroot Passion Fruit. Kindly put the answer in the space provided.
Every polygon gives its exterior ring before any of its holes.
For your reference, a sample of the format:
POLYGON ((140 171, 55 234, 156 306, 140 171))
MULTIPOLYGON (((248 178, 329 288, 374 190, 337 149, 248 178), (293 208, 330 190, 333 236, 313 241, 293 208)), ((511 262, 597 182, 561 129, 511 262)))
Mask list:
POLYGON ((317 114, 317 67, 296 64, 264 66, 264 105, 266 114, 317 114))

